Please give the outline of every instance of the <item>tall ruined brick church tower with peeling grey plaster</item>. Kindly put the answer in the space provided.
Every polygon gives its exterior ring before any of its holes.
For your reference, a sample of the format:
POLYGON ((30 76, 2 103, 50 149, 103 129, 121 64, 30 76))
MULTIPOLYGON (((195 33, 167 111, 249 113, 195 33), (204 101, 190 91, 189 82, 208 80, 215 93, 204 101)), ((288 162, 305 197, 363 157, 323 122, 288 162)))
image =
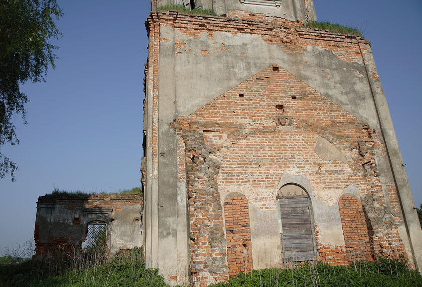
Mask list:
POLYGON ((422 269, 370 42, 311 20, 312 0, 152 0, 143 245, 170 285, 378 256, 422 269))

